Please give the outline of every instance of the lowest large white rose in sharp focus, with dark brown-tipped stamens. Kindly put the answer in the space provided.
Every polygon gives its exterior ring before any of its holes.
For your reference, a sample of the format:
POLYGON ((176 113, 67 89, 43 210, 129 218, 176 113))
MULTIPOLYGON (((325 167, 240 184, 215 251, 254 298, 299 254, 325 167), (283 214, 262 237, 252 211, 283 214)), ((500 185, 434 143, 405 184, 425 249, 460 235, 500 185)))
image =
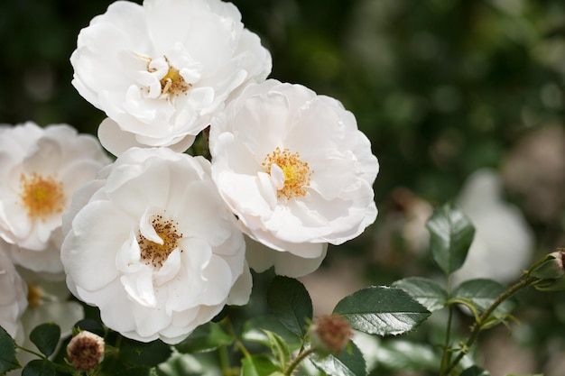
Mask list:
POLYGON ((132 148, 81 188, 64 216, 71 292, 138 341, 180 342, 251 292, 245 241, 209 161, 132 148))

